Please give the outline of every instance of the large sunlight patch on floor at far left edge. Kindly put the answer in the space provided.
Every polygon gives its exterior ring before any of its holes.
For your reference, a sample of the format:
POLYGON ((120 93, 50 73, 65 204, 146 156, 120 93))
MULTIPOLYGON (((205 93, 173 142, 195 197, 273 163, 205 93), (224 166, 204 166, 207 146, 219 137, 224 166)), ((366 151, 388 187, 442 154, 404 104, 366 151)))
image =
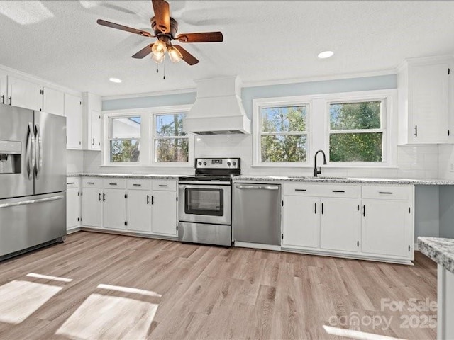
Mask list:
POLYGON ((60 290, 55 285, 21 280, 0 286, 0 322, 20 324, 60 290))

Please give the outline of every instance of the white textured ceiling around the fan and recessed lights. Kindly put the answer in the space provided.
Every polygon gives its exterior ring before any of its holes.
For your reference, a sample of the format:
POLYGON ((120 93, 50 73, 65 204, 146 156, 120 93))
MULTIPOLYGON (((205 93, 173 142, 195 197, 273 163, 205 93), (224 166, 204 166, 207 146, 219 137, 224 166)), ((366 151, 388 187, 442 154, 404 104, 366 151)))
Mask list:
POLYGON ((151 1, 0 1, 0 64, 116 96, 194 88, 194 79, 222 75, 247 84, 374 72, 454 53, 454 1, 168 2, 179 33, 221 30, 224 42, 181 44, 200 62, 167 62, 165 80, 149 57, 131 58, 154 38, 96 24, 151 32, 151 1), (319 60, 322 50, 335 55, 319 60))

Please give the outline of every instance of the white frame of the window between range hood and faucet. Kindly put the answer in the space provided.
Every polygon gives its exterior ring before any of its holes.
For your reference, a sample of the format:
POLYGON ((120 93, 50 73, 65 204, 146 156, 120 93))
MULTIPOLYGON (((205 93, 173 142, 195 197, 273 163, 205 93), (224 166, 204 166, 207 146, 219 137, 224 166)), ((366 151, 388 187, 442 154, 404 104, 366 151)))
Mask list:
POLYGON ((307 96, 258 98, 253 100, 253 166, 294 167, 307 166, 311 158, 311 100, 307 96), (262 133, 262 108, 306 106, 306 131, 262 133), (304 162, 262 162, 262 136, 265 135, 306 135, 306 161, 304 162))

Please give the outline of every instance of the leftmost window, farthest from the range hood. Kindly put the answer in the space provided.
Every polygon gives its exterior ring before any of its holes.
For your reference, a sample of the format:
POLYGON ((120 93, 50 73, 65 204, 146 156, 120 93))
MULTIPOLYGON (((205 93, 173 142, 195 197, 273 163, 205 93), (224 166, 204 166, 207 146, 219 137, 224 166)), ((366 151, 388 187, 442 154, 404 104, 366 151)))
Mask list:
POLYGON ((140 115, 109 118, 109 162, 139 162, 140 115))

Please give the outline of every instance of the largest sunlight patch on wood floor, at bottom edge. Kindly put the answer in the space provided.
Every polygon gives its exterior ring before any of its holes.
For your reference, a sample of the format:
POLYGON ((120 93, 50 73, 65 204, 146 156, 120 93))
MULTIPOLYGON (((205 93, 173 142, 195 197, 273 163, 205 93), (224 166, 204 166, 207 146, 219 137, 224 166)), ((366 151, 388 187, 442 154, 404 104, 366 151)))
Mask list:
POLYGON ((157 305, 92 294, 55 334, 71 339, 145 339, 157 305))

